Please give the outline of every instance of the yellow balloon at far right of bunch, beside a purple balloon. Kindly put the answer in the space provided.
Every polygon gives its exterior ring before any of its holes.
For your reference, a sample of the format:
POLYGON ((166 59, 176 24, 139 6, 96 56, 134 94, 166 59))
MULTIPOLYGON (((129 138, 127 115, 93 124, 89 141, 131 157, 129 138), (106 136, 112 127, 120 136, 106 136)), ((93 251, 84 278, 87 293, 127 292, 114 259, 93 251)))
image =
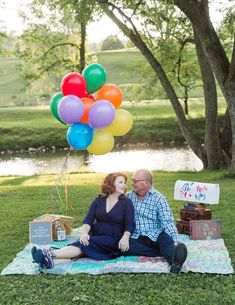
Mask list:
POLYGON ((111 132, 113 136, 124 136, 131 130, 133 125, 133 118, 130 112, 125 109, 117 109, 115 117, 111 125, 105 130, 111 132))

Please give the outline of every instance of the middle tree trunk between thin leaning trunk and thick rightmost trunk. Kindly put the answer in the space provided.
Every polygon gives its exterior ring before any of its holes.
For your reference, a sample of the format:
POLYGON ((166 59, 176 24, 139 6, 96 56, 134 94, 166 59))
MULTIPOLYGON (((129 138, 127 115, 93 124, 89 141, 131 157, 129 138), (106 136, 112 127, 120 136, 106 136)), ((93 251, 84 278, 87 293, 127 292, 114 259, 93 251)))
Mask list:
POLYGON ((214 74, 209 61, 201 47, 201 41, 194 29, 194 40, 201 70, 205 97, 205 150, 209 169, 225 167, 225 156, 222 153, 219 139, 217 91, 214 74))

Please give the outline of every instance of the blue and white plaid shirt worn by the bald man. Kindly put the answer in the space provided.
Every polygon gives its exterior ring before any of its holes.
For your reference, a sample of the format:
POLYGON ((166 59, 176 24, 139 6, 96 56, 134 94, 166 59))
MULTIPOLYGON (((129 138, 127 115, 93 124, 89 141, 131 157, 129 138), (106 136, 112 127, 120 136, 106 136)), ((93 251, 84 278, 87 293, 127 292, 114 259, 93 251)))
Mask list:
POLYGON ((156 241, 159 234, 165 231, 174 241, 178 240, 173 214, 161 193, 152 187, 143 200, 140 200, 135 192, 129 192, 127 197, 133 202, 135 210, 136 228, 132 238, 137 239, 140 235, 145 235, 156 241))

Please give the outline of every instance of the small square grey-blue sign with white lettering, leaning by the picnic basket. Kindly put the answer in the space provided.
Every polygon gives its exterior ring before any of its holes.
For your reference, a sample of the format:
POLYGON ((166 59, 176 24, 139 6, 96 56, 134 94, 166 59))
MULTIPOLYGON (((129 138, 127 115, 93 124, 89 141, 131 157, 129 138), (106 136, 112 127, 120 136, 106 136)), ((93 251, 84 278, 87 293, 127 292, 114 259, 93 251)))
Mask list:
POLYGON ((51 221, 32 221, 29 223, 29 241, 32 244, 49 244, 52 242, 51 221))

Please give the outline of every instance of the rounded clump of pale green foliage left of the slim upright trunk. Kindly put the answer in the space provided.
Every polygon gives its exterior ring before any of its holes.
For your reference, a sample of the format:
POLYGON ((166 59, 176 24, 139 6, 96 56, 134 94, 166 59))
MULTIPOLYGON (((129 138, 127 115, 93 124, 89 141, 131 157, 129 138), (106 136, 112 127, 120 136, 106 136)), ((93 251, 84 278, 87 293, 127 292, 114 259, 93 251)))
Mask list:
POLYGON ((67 71, 79 70, 78 34, 53 31, 45 24, 32 25, 16 46, 19 70, 27 88, 37 96, 58 90, 56 83, 67 71))

